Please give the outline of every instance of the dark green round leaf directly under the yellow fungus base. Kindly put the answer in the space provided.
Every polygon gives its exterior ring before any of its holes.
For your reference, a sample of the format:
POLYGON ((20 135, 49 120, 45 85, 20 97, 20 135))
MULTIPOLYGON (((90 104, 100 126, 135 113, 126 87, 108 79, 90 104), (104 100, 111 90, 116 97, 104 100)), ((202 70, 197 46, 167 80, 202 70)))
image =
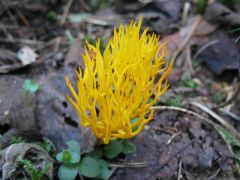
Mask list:
POLYGON ((109 158, 115 158, 122 152, 123 146, 120 141, 110 141, 109 144, 104 146, 104 155, 109 158))

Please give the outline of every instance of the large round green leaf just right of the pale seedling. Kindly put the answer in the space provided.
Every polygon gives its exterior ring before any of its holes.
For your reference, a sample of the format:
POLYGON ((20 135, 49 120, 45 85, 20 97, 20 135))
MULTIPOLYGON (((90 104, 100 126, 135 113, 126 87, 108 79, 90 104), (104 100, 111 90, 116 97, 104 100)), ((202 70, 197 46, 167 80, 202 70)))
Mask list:
POLYGON ((83 176, 90 178, 97 177, 101 172, 100 163, 91 157, 84 157, 80 162, 79 169, 83 176))

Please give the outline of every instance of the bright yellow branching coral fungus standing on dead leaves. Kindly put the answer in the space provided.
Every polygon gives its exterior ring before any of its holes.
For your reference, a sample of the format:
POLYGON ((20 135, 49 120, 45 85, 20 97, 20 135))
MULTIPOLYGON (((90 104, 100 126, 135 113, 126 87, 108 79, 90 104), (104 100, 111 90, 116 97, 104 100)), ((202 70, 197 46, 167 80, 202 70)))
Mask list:
POLYGON ((159 37, 140 33, 141 20, 114 30, 103 54, 100 41, 87 43, 82 56, 85 70, 77 71, 77 91, 66 77, 72 97, 67 96, 82 126, 92 128, 103 143, 139 134, 153 118, 149 108, 169 87, 166 77, 172 70, 167 62, 166 44, 159 37), (149 99, 152 101, 149 102, 149 99))

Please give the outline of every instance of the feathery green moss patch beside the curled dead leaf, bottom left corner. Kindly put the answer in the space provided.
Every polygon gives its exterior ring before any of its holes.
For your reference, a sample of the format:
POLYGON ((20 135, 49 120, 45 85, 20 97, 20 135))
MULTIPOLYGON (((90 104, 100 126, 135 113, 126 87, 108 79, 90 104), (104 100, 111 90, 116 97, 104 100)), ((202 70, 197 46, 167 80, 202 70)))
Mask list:
POLYGON ((40 180, 44 175, 47 174, 50 166, 47 165, 43 167, 42 169, 36 168, 32 162, 28 159, 20 159, 20 164, 23 166, 23 168, 29 172, 32 180, 40 180))

